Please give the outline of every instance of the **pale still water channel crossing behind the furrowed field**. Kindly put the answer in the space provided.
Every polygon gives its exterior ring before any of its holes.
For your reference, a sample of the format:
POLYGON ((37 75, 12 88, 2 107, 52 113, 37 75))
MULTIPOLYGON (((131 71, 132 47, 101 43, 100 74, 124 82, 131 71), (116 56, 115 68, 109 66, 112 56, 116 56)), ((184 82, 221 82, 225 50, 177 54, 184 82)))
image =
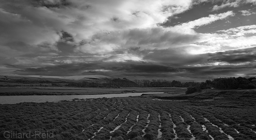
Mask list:
POLYGON ((28 96, 0 96, 0 104, 14 104, 20 102, 58 102, 72 101, 72 99, 88 99, 88 98, 113 98, 113 97, 128 97, 140 96, 141 94, 152 94, 163 92, 145 92, 145 93, 123 93, 123 94, 97 94, 97 95, 28 95, 28 96))

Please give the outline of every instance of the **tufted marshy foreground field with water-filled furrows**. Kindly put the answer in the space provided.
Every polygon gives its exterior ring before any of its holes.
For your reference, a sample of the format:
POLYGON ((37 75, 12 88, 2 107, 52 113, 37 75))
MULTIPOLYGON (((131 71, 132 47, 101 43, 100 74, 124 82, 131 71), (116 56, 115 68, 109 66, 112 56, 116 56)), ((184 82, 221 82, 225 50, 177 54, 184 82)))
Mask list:
POLYGON ((211 100, 200 97, 161 101, 143 95, 4 104, 0 139, 5 131, 40 131, 53 133, 56 140, 256 140, 254 92, 216 93, 211 100))

